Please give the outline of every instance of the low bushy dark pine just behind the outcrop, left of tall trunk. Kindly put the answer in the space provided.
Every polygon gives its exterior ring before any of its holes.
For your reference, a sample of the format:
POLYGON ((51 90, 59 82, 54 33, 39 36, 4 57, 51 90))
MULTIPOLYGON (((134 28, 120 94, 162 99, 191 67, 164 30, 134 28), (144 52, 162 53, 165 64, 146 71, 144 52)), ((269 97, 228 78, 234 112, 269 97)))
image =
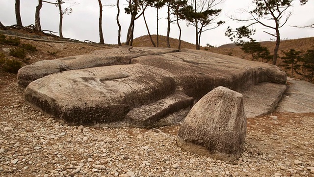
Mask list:
POLYGON ((244 53, 251 55, 252 61, 262 59, 262 62, 268 62, 272 58, 268 49, 266 47, 262 47, 261 43, 255 41, 255 39, 251 39, 250 42, 243 42, 237 45, 242 46, 241 50, 244 53))

